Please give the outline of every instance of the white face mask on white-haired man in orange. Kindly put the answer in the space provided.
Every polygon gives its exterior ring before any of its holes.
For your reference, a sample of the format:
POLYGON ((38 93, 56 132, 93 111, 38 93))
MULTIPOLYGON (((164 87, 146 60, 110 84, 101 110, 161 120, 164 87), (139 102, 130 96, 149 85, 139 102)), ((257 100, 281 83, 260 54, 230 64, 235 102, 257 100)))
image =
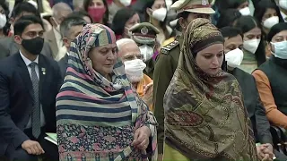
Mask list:
POLYGON ((146 64, 143 63, 141 59, 134 59, 131 61, 126 61, 125 63, 126 77, 132 83, 139 82, 143 79, 143 70, 146 64))

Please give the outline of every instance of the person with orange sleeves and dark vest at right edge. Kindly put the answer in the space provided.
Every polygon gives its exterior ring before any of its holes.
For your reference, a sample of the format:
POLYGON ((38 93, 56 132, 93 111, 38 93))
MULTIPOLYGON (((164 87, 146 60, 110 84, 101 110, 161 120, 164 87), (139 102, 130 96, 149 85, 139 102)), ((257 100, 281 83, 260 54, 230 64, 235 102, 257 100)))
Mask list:
POLYGON ((257 80, 259 96, 268 120, 287 129, 287 23, 274 25, 267 35, 271 58, 252 75, 257 80))

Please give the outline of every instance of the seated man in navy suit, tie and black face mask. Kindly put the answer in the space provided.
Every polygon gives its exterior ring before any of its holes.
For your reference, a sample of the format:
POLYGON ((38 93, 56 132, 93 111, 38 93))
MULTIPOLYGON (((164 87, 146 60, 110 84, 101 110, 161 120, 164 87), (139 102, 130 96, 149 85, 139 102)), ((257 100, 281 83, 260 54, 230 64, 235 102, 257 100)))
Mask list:
POLYGON ((58 160, 57 146, 44 139, 56 132, 56 97, 62 84, 57 62, 41 55, 43 24, 34 15, 14 24, 20 51, 0 61, 0 156, 58 160))

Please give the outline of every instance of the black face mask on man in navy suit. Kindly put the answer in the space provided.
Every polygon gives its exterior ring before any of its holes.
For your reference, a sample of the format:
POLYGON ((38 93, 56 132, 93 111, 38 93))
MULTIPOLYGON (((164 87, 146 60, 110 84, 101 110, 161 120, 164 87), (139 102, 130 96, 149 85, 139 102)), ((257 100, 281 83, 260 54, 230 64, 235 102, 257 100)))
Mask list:
POLYGON ((22 39, 22 47, 32 55, 39 55, 44 46, 44 38, 22 39))

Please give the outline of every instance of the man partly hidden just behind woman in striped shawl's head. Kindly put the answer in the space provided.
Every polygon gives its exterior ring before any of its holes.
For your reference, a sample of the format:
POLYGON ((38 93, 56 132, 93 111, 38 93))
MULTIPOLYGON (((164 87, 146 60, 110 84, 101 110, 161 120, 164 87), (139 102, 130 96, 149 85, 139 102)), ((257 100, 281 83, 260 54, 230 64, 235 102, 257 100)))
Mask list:
MULTIPOLYGON (((60 32, 63 38, 64 45, 67 49, 66 51, 70 51, 71 41, 73 41, 74 38, 76 38, 79 35, 79 33, 83 30, 83 25, 85 24, 86 21, 83 20, 81 15, 79 16, 70 15, 66 17, 64 21, 62 21, 60 25, 60 32)), ((67 52, 65 56, 61 58, 60 61, 58 62, 63 79, 65 77, 65 71, 68 64, 68 55, 69 53, 67 52)))

